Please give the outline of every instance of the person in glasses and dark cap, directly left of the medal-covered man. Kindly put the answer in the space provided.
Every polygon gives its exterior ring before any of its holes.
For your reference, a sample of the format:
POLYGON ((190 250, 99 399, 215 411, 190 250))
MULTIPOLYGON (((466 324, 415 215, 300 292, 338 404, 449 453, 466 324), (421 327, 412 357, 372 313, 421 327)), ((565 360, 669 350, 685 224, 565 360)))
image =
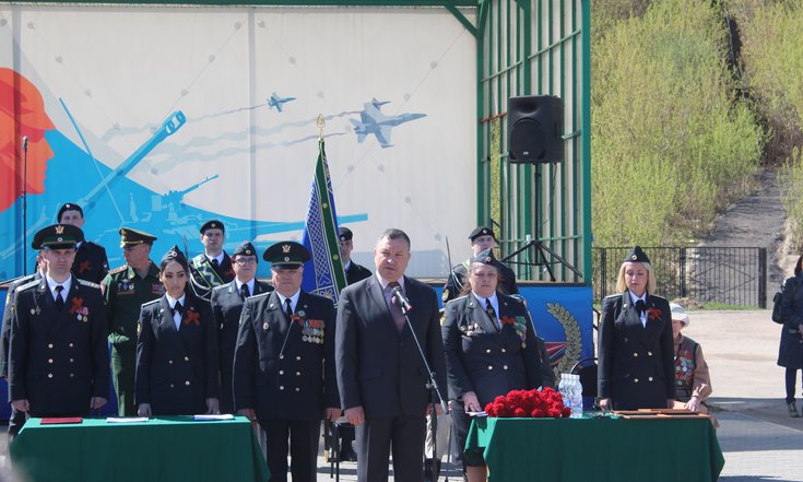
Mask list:
POLYGON ((273 291, 273 286, 257 280, 257 250, 244 242, 232 254, 235 279, 212 290, 212 314, 217 328, 217 350, 221 354, 221 413, 234 413, 232 374, 234 348, 243 305, 249 296, 273 291))

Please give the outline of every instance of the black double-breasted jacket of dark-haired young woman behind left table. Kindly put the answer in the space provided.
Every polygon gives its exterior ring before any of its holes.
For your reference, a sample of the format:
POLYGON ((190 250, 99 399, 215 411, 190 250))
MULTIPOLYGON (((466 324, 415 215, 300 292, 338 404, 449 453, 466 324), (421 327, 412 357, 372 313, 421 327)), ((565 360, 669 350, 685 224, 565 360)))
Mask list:
POLYGON ((142 305, 137 341, 137 404, 150 403, 154 415, 206 412, 217 398, 217 333, 209 303, 185 296, 176 330, 167 295, 142 305))

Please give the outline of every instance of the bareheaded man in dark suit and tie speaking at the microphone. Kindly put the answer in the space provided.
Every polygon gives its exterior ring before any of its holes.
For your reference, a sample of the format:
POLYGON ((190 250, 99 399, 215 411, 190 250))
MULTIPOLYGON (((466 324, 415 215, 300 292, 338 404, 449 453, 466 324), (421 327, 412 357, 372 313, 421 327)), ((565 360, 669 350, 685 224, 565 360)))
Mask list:
POLYGON ((357 427, 357 480, 387 480, 392 449, 394 480, 418 482, 430 393, 424 361, 392 292, 398 287, 412 305, 410 324, 445 389, 438 301, 429 286, 404 277, 410 238, 403 231, 382 233, 374 255, 376 274, 341 293, 338 384, 346 419, 357 427))

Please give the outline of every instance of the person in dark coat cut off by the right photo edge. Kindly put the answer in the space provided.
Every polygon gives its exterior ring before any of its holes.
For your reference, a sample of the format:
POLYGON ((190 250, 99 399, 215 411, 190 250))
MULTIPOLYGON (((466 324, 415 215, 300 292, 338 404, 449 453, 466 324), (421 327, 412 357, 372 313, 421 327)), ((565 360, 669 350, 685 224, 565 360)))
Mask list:
MULTIPOLYGON (((778 366, 787 368, 787 407, 789 416, 800 416, 794 402, 794 379, 803 367, 803 256, 798 258, 794 275, 783 283, 783 301, 781 302, 781 345, 778 350, 778 366)), ((803 384, 803 381, 802 381, 803 384)))

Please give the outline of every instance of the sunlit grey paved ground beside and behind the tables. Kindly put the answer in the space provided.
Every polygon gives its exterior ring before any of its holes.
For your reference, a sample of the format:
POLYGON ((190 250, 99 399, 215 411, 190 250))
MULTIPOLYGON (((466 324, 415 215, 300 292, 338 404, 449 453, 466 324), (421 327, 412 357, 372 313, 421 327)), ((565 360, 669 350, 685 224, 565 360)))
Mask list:
MULTIPOLYGON (((783 369, 776 365, 780 326, 770 321, 768 310, 689 315, 685 333, 702 345, 713 386, 709 401, 721 423, 725 466, 720 481, 803 481, 803 419, 788 416, 783 369)), ((318 473, 320 481, 334 480, 322 457, 318 473)), ((356 463, 343 462, 340 473, 340 480, 355 481, 356 463)), ((460 480, 457 469, 446 474, 460 480)))

